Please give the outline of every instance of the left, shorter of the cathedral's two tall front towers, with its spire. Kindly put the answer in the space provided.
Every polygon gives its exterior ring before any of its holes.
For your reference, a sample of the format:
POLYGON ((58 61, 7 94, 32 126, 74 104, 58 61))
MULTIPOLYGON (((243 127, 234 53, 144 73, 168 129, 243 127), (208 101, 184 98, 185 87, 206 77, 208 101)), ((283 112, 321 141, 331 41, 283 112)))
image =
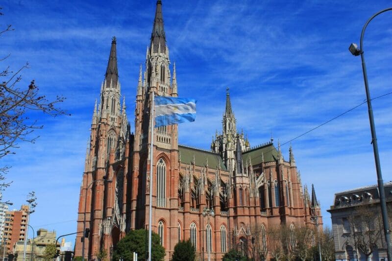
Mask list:
POLYGON ((80 188, 77 231, 90 229, 90 237, 76 236, 75 255, 97 255, 115 245, 126 229, 126 184, 129 144, 132 139, 121 106, 116 38, 113 37, 100 104, 94 107, 83 181, 80 188), (84 240, 84 251, 82 249, 84 240))

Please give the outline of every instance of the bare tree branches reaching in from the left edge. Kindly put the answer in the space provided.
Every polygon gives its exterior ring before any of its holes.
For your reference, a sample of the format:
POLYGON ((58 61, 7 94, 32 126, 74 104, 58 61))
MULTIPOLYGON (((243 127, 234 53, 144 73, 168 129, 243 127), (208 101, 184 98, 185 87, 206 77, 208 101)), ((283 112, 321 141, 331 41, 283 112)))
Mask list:
MULTIPOLYGON (((3 15, 1 9, 0 7, 0 16, 3 15)), ((14 29, 10 24, 6 25, 0 31, 0 38, 12 30, 14 29)), ((36 120, 29 119, 29 113, 41 111, 53 117, 65 114, 64 110, 57 107, 58 103, 64 101, 64 97, 56 96, 54 100, 49 101, 39 92, 34 80, 31 80, 28 86, 20 87, 22 71, 29 67, 28 63, 19 70, 12 71, 9 66, 4 65, 9 58, 10 54, 0 57, 0 62, 3 64, 3 69, 0 70, 0 159, 15 154, 19 142, 34 143, 38 138, 32 132, 43 126, 38 125, 36 120)), ((0 167, 0 189, 10 184, 5 182, 5 174, 9 168, 10 166, 0 167)))

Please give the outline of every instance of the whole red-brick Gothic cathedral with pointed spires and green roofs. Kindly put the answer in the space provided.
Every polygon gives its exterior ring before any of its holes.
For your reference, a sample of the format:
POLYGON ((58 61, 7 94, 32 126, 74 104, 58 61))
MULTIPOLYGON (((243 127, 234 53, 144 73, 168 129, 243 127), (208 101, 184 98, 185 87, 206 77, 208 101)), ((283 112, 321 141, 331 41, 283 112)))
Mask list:
MULTIPOLYGON (((182 239, 191 239, 199 257, 207 258, 210 251, 212 260, 221 260, 230 248, 249 239, 255 228, 313 225, 312 215, 320 216, 319 203, 314 190, 311 196, 302 187, 293 149, 285 160, 272 139, 251 147, 246 135, 238 132, 228 91, 222 131, 215 134, 210 150, 178 144, 177 125, 154 128, 151 166, 152 92, 178 94, 161 0, 156 3, 146 68, 139 72, 132 131, 121 101, 116 39, 112 41, 80 189, 77 231, 83 231, 84 220, 91 231, 85 238, 85 258, 96 258, 102 249, 110 254, 127 231, 148 228, 149 204, 166 260, 182 239), (149 191, 151 170, 154 189, 149 191), (210 215, 203 215, 208 211, 210 215)), ((81 240, 80 233, 75 256, 82 255, 81 240)))

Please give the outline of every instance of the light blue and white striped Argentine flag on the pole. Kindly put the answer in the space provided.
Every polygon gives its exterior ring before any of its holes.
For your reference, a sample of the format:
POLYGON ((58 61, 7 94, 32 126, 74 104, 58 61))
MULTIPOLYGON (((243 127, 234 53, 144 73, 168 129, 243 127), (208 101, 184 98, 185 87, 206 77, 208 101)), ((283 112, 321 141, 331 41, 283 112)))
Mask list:
POLYGON ((155 127, 195 121, 196 99, 155 96, 155 127))

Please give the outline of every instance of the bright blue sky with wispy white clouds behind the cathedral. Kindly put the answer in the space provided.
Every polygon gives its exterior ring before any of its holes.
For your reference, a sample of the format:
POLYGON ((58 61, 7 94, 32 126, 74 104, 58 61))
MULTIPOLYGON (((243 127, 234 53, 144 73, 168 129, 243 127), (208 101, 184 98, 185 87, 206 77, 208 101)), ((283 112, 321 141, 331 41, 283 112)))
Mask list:
MULTIPOLYGON (((95 99, 103 81, 112 36, 122 94, 133 131, 140 64, 145 63, 155 0, 5 0, 2 27, 15 31, 0 38, 1 62, 15 71, 25 64, 27 86, 35 79, 49 97, 64 95, 71 117, 33 114, 45 128, 35 144, 20 143, 13 184, 3 199, 15 208, 36 191, 31 215, 35 230, 58 235, 76 231, 79 189, 95 99)), ((209 149, 221 131, 225 89, 230 87, 237 128, 252 146, 277 144, 312 129, 365 99, 359 57, 348 51, 362 26, 391 2, 353 0, 234 1, 164 0, 163 15, 178 93, 194 97, 197 118, 179 125, 179 142, 209 149)), ((392 12, 369 24, 364 41, 372 97, 392 92, 392 12)), ((384 181, 392 180, 392 95, 373 101, 384 181)), ((366 104, 292 142, 302 183, 316 188, 324 224, 335 192, 376 184, 366 104)), ((288 159, 289 144, 282 146, 288 159)), ((31 235, 31 233, 30 233, 31 235)), ((73 242, 74 237, 68 237, 73 242)))

